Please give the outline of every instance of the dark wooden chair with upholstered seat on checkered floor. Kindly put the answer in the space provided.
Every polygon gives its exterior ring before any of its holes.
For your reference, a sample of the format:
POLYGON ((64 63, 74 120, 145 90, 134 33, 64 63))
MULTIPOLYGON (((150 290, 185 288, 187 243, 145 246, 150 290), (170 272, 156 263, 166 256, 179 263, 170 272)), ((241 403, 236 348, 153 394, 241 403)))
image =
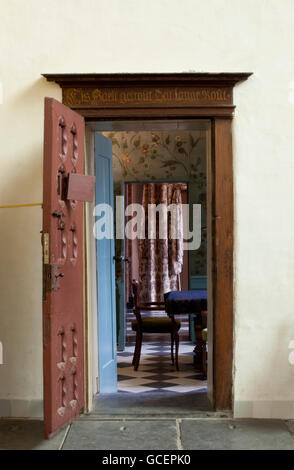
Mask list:
POLYGON ((133 312, 136 320, 132 321, 132 330, 136 332, 136 345, 133 357, 134 370, 138 370, 143 333, 169 333, 171 337, 171 360, 174 361, 174 344, 176 345, 176 367, 178 370, 178 349, 179 349, 179 335, 178 331, 181 328, 181 322, 172 320, 167 315, 162 317, 145 317, 142 318, 142 310, 164 310, 164 302, 139 302, 139 283, 138 281, 132 282, 134 294, 134 307, 133 312))

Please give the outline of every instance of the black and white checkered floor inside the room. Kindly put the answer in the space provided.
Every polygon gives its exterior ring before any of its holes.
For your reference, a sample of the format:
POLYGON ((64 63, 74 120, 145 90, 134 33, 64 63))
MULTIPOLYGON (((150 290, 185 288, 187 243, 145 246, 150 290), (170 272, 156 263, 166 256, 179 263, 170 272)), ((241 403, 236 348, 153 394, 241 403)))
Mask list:
POLYGON ((170 344, 143 343, 139 369, 134 371, 132 358, 134 345, 117 354, 118 391, 144 392, 205 392, 206 380, 193 364, 191 342, 180 342, 179 371, 171 363, 170 344))

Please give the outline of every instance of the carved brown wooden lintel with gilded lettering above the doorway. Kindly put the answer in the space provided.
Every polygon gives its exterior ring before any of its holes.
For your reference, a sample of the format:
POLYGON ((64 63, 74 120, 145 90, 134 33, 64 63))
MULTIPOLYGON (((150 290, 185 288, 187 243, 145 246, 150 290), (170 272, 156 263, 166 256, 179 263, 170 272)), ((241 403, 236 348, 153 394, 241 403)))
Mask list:
POLYGON ((233 87, 250 73, 179 74, 44 74, 62 87, 63 103, 88 118, 126 114, 140 117, 144 109, 166 110, 174 117, 233 114, 233 87), (140 109, 142 111, 140 111, 140 109))

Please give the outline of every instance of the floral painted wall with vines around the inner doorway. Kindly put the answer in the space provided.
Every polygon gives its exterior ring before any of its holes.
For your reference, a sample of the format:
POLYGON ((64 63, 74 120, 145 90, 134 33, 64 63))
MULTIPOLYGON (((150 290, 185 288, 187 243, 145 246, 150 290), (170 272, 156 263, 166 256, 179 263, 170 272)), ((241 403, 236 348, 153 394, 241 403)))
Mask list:
MULTIPOLYGON (((205 131, 103 132, 112 140, 115 193, 125 181, 187 181, 190 203, 201 204, 205 226, 205 131)), ((190 273, 206 275, 206 232, 199 250, 190 253, 190 273)))

